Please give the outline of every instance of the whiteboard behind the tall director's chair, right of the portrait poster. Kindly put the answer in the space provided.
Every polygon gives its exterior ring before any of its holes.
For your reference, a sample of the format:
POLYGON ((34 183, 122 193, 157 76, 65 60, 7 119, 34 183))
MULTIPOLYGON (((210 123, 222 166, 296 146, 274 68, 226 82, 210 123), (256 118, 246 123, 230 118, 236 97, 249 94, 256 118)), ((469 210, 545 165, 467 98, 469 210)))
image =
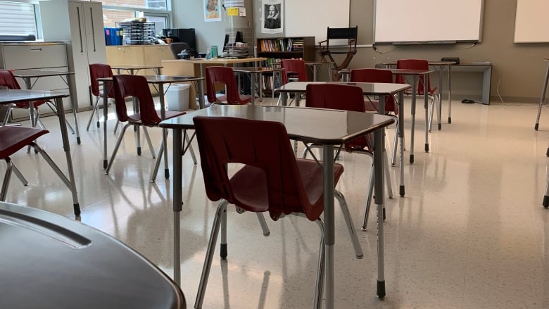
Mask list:
MULTIPOLYGON (((326 39, 328 27, 349 27, 350 0, 286 0, 286 37, 326 39)), ((360 29, 358 29, 360 31, 360 29)))

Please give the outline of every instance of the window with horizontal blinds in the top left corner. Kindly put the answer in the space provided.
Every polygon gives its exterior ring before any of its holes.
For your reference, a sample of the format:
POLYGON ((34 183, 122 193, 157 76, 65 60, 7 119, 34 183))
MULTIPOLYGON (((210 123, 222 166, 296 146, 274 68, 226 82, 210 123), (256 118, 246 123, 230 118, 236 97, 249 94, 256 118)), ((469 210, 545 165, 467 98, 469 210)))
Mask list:
POLYGON ((38 37, 34 4, 0 1, 0 33, 38 37))

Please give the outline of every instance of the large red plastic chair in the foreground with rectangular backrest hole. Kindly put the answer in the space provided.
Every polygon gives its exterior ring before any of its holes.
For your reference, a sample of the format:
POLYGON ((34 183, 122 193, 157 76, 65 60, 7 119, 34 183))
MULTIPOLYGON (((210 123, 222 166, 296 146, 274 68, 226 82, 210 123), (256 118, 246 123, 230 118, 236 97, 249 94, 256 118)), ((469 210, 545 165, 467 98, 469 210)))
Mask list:
MULTIPOLYGON (((215 213, 194 304, 194 308, 202 308, 220 227, 222 258, 227 256, 227 244, 224 244, 227 204, 232 203, 237 208, 254 213, 268 212, 275 221, 284 215, 305 215, 309 220, 316 221, 324 234, 320 217, 324 210, 323 171, 322 163, 295 158, 286 128, 279 122, 195 117, 194 124, 206 194, 211 201, 222 200, 215 213), (229 163, 239 163, 244 167, 229 178, 229 163)), ((334 164, 334 186, 342 173, 343 166, 334 164)), ((343 195, 336 191, 336 198, 341 208, 346 210, 343 195)), ((360 243, 357 244, 360 249, 360 243)), ((321 237, 315 305, 320 305, 322 301, 323 251, 324 239, 321 237)), ((361 250, 358 253, 362 256, 361 250)))

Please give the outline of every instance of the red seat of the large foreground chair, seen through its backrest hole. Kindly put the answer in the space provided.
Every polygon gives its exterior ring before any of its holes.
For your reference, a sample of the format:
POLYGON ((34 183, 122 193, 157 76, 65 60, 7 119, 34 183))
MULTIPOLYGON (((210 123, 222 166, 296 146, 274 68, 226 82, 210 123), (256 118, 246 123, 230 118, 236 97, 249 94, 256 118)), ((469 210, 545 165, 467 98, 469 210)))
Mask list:
MULTIPOLYGON (((308 196, 310 203, 322 202, 320 201, 323 198, 322 166, 315 160, 301 158, 296 158, 296 163, 303 180, 305 194, 308 196)), ((334 184, 337 184, 341 174, 343 174, 343 165, 334 164, 334 184)), ((245 165, 229 181, 236 199, 236 201, 229 201, 230 203, 234 202, 236 206, 255 213, 269 209, 267 179, 263 170, 245 165)), ((303 213, 303 206, 298 198, 295 201, 286 203, 282 208, 286 215, 289 213, 303 213)), ((322 209, 323 207, 320 208, 320 213, 322 213, 322 209)))

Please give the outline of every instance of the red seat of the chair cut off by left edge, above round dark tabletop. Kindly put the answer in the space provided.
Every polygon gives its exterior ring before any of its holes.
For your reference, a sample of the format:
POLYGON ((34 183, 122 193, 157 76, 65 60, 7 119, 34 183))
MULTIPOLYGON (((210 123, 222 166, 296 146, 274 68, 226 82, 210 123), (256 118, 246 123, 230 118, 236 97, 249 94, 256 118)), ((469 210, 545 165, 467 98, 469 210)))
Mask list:
POLYGON ((30 144, 34 139, 49 133, 32 127, 0 127, 0 158, 7 158, 30 144))

